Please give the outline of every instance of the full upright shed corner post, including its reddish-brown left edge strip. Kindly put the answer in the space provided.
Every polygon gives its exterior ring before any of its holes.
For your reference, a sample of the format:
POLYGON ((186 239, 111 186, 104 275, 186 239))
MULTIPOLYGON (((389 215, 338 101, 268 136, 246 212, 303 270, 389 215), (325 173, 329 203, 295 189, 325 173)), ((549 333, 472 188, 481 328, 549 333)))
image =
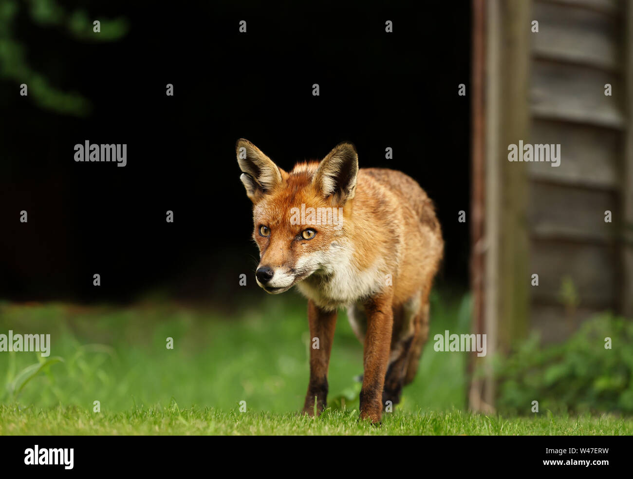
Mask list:
POLYGON ((475 367, 484 368, 484 378, 471 383, 475 411, 494 408, 492 357, 527 333, 527 169, 508 162, 508 145, 529 134, 529 13, 529 2, 473 0, 473 94, 484 98, 482 105, 473 98, 473 331, 487 336, 486 357, 472 358, 475 367), (480 32, 484 39, 477 37, 480 32))

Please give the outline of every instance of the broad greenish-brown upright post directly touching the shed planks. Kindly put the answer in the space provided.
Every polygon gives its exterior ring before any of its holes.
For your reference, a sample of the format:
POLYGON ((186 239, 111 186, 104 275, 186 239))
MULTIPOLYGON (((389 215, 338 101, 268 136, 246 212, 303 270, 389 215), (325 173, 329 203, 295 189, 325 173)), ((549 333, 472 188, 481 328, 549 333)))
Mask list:
POLYGON ((501 143, 497 155, 501 181, 498 345, 501 352, 507 353, 525 339, 528 330, 531 274, 528 271, 528 165, 509 162, 508 145, 518 145, 519 140, 527 141, 529 137, 531 2, 504 0, 501 5, 501 143))

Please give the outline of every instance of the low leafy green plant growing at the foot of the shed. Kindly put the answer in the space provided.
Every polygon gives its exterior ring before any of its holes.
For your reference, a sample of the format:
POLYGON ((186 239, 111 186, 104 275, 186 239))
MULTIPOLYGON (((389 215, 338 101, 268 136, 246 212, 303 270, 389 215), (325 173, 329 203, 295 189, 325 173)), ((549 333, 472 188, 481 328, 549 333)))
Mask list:
POLYGON ((633 413, 633 323, 603 314, 566 342, 542 347, 531 336, 498 361, 499 411, 527 414, 532 401, 555 412, 633 413))

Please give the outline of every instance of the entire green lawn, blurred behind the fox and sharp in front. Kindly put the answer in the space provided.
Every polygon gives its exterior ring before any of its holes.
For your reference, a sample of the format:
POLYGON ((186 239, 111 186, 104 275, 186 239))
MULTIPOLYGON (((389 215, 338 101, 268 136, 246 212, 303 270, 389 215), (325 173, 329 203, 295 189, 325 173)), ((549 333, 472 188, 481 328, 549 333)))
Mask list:
MULTIPOLYGON (((156 300, 0 303, 0 333, 51 335, 45 359, 0 353, 0 434, 633 433, 633 421, 614 416, 464 412, 466 354, 433 352, 432 342, 382 426, 359 423, 354 377, 362 348, 344 313, 330 361, 330 409, 316 420, 299 416, 308 383, 305 303, 292 294, 259 301, 222 312, 156 300), (39 367, 45 360, 51 364, 39 367)), ((468 324, 467 299, 434 295, 431 337, 468 324)))

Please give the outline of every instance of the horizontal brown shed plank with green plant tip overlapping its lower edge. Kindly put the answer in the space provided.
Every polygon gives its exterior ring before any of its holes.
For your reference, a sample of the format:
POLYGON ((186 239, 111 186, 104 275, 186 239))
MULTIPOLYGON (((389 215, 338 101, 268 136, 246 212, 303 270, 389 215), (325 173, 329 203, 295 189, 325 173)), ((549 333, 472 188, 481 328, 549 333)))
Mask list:
POLYGON ((617 248, 533 239, 530 249, 530 278, 532 274, 539 275, 539 286, 530 286, 531 301, 560 304, 561 286, 568 276, 579 293, 583 307, 616 306, 620 265, 617 248))

